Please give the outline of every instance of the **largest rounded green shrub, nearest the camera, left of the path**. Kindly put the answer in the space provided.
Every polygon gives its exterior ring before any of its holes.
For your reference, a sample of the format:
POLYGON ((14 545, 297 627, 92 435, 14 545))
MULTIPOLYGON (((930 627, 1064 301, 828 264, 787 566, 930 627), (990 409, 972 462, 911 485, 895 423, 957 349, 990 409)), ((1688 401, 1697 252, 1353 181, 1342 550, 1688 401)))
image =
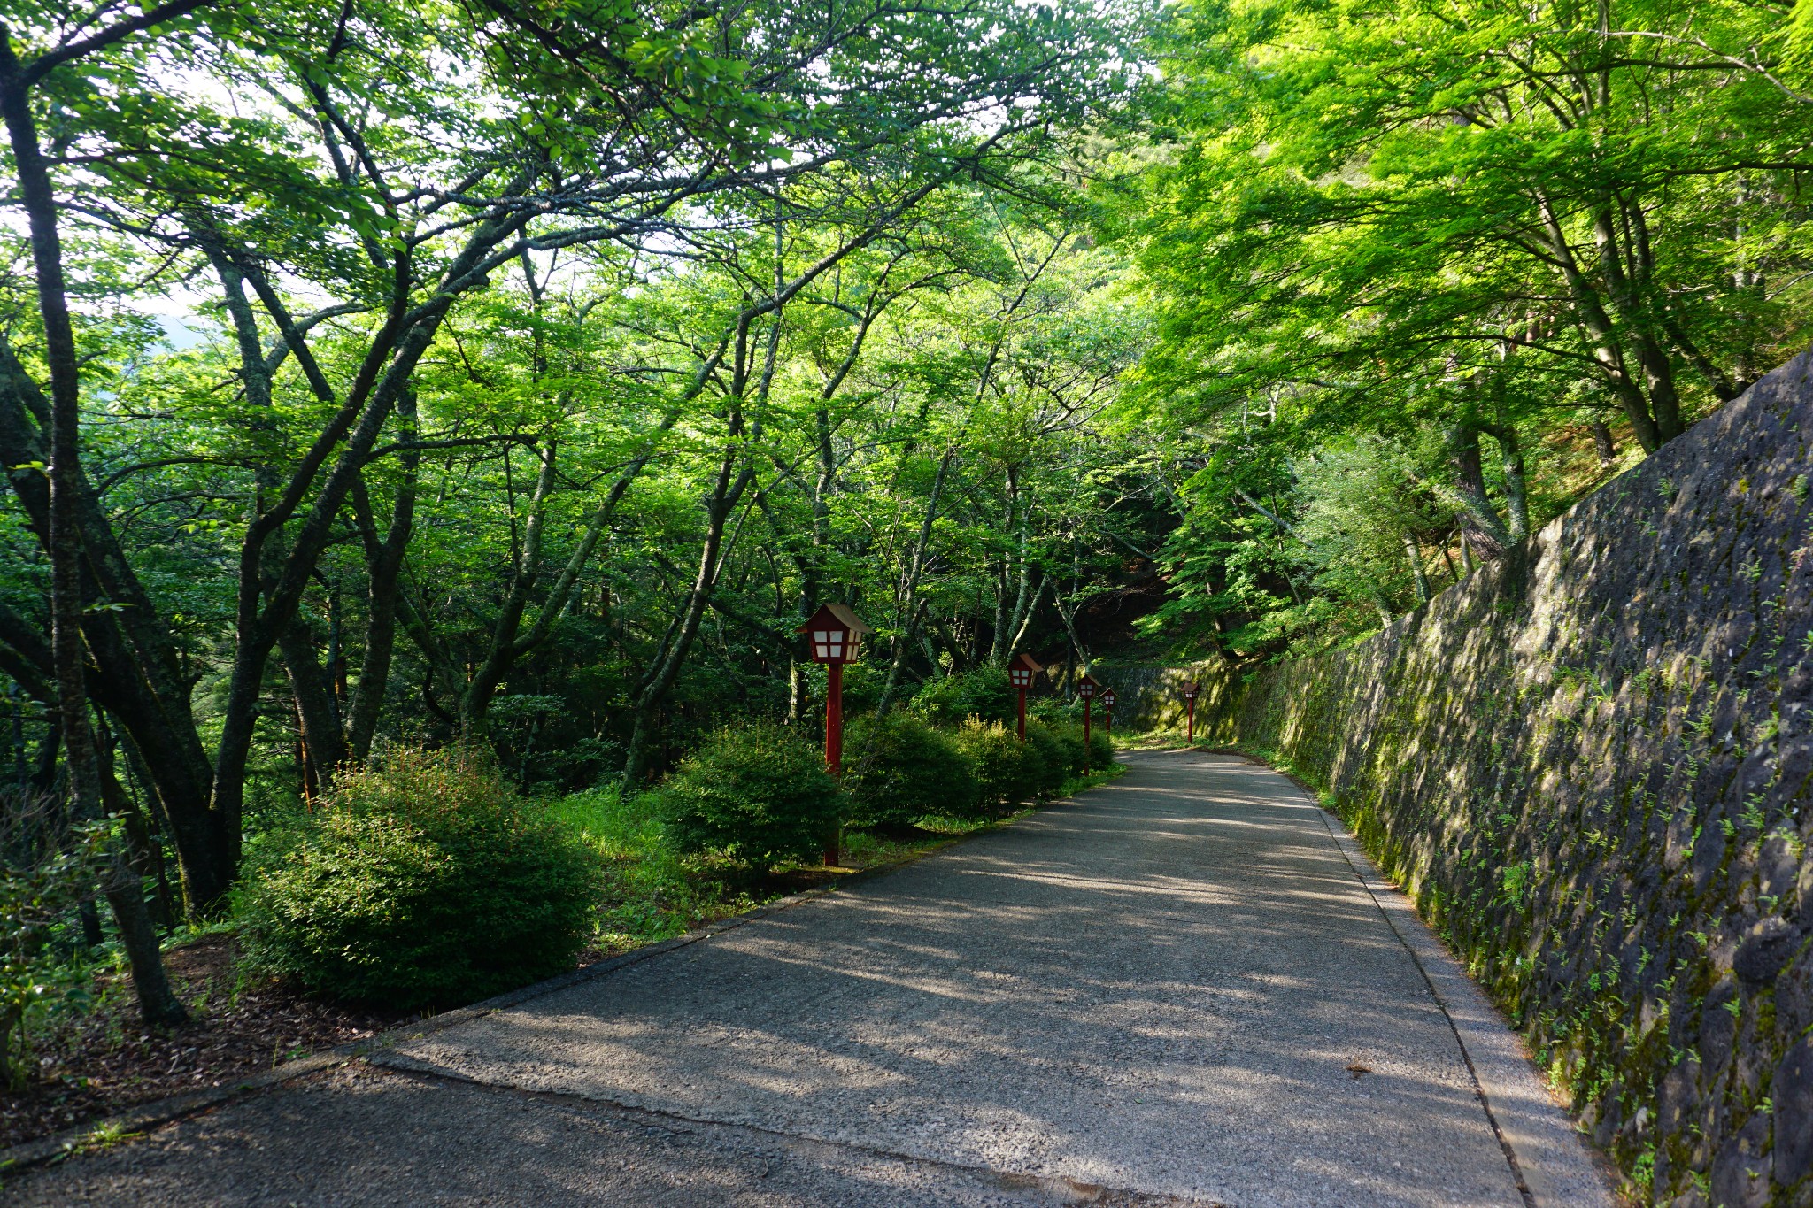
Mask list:
POLYGON ((571 969, 596 900, 596 858, 490 762, 404 750, 265 835, 238 907, 254 967, 415 1009, 571 969))

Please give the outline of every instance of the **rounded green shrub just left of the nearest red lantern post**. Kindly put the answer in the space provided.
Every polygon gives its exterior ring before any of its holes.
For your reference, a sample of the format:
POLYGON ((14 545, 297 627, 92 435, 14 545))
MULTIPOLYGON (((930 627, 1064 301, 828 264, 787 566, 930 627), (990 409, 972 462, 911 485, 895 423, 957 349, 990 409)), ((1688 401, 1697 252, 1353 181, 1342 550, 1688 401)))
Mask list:
POLYGON ((760 866, 814 858, 845 806, 818 750, 771 724, 720 730, 662 790, 676 848, 760 866))

